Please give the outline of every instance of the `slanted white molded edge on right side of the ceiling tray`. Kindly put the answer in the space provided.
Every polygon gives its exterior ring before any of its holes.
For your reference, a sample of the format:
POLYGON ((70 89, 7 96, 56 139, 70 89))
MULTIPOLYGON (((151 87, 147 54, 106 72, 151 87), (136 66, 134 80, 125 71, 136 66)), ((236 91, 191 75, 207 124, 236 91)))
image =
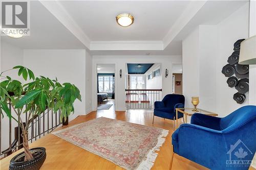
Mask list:
POLYGON ((184 12, 178 17, 174 25, 163 38, 164 48, 174 40, 174 38, 182 31, 187 23, 198 13, 207 1, 193 1, 187 6, 184 12))

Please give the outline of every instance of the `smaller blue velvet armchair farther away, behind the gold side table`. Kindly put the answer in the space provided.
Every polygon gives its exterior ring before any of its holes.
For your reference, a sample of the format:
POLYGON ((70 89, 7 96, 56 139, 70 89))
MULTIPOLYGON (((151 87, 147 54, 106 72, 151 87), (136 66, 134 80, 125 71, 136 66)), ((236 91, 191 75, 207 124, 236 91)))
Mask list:
MULTIPOLYGON (((154 117, 163 117, 167 119, 176 119, 176 108, 184 108, 185 98, 181 94, 167 94, 162 101, 155 102, 154 117)), ((178 118, 182 118, 183 114, 179 113, 178 118)), ((174 121, 175 127, 175 121, 174 121)))

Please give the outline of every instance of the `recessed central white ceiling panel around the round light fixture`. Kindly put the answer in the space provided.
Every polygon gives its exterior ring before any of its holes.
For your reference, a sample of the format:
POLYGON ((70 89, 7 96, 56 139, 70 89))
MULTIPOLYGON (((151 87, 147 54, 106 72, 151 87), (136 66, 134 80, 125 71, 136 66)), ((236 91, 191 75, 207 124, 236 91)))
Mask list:
POLYGON ((91 41, 162 40, 189 1, 61 1, 91 41), (123 28, 116 16, 131 13, 135 21, 123 28))

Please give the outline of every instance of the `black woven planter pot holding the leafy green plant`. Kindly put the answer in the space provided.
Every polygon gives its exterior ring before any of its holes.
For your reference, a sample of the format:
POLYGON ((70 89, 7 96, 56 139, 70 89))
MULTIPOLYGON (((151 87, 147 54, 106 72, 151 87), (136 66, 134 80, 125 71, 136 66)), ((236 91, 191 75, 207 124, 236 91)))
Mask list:
POLYGON ((46 159, 46 149, 42 147, 32 148, 30 152, 34 156, 32 160, 24 162, 25 153, 19 153, 10 161, 10 170, 38 170, 46 159))

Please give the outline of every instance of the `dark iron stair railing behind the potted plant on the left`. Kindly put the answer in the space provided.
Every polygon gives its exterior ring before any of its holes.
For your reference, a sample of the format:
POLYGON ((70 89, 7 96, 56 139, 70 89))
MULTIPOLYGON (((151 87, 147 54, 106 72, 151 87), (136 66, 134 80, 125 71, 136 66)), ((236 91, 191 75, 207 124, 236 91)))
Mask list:
MULTIPOLYGON (((11 104, 9 104, 9 108, 11 109, 11 104)), ((57 128, 59 125, 62 124, 62 121, 60 120, 60 114, 61 111, 59 110, 57 113, 54 113, 54 111, 51 109, 46 109, 44 113, 41 113, 39 116, 33 117, 33 119, 30 119, 31 121, 30 127, 28 129, 29 132, 29 142, 33 142, 42 136, 45 136, 48 133, 51 133, 55 128, 57 128)), ((27 121, 28 113, 25 113, 24 119, 27 121)), ((26 124, 25 122, 24 124, 26 124)), ((1 126, 2 120, 0 118, 0 133, 1 133, 1 126)), ((2 144, 2 136, 1 136, 1 142, 0 142, 0 156, 6 157, 13 152, 22 149, 23 148, 23 138, 22 138, 22 129, 20 126, 13 120, 9 119, 9 147, 5 149, 4 151, 1 151, 1 144, 2 144), (14 130, 12 129, 14 127, 14 130), (14 132, 14 133, 13 133, 14 132), (13 138, 13 140, 12 140, 13 138)), ((2 135, 2 134, 1 134, 2 135)))

